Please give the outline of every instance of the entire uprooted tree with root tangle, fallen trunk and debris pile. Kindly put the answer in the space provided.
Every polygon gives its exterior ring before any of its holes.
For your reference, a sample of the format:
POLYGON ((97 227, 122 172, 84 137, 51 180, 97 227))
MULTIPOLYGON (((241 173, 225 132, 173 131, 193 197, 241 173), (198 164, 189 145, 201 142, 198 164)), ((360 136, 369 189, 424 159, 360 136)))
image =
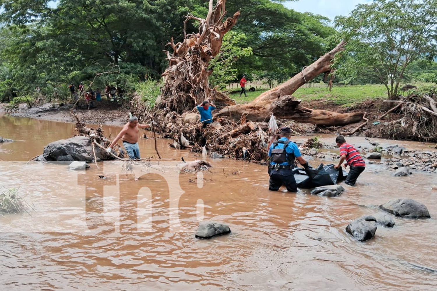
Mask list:
POLYGON ((185 20, 185 24, 191 20, 198 21, 198 33, 187 34, 184 31, 184 41, 175 44, 172 39, 168 44, 171 47, 167 51, 169 67, 163 73, 161 97, 153 112, 149 113, 162 129, 163 136, 173 139, 173 147, 191 147, 193 151, 201 151, 206 144, 210 151, 234 158, 266 161, 267 144, 275 133, 269 132, 268 124, 262 121, 266 121, 271 114, 277 118, 319 125, 346 125, 365 120, 363 112, 342 114, 312 110, 291 97, 296 89, 317 75, 331 72, 333 58, 343 50, 344 42, 288 82, 264 92, 252 103, 235 104, 225 94, 209 88, 208 76, 212 72, 208 70, 208 62, 218 55, 223 36, 239 17, 239 12, 236 12, 223 21, 225 0, 218 0, 215 6, 212 2, 209 1, 205 19, 189 15, 185 20), (222 108, 206 129, 199 123, 195 110, 195 106, 205 99, 222 108))

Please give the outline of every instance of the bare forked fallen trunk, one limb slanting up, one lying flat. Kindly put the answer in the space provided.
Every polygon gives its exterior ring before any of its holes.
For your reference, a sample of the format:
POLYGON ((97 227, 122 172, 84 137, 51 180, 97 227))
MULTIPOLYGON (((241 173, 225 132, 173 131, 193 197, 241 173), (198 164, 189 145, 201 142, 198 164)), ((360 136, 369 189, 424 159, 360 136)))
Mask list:
POLYGON ((291 96, 296 89, 317 75, 329 72, 334 56, 336 53, 343 51, 345 44, 344 41, 340 42, 333 50, 304 68, 302 72, 284 84, 262 93, 251 103, 227 106, 215 116, 232 116, 238 120, 244 114, 247 120, 260 122, 267 120, 270 114, 273 114, 277 118, 326 126, 343 126, 361 121, 364 112, 336 113, 327 110, 309 109, 300 105, 301 100, 296 100, 291 96))

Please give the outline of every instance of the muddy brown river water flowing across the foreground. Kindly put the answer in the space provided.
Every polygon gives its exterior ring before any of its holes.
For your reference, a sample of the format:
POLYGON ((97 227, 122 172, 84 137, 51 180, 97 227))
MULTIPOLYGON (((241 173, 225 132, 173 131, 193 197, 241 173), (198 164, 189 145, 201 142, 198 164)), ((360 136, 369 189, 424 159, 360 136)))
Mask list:
MULTIPOLYGON (((120 129, 104 127, 111 137, 120 129)), ((339 197, 270 192, 267 168, 246 161, 208 157, 210 171, 180 171, 181 157, 202 157, 166 139, 157 140, 161 161, 106 161, 75 172, 28 163, 73 130, 72 123, 0 116, 0 136, 14 140, 0 144, 0 192, 18 188, 29 205, 28 212, 0 216, 1 290, 436 290, 435 173, 394 177, 388 165, 368 163, 357 186, 343 184, 339 197), (351 220, 402 197, 425 204, 431 218, 393 218, 393 228, 378 225, 364 243, 346 233, 351 220), (196 239, 206 220, 232 233, 196 239)), ((321 141, 333 145, 334 137, 321 141)), ((347 141, 368 144, 363 137, 347 141)), ((142 157, 156 155, 152 138, 139 146, 142 157)))

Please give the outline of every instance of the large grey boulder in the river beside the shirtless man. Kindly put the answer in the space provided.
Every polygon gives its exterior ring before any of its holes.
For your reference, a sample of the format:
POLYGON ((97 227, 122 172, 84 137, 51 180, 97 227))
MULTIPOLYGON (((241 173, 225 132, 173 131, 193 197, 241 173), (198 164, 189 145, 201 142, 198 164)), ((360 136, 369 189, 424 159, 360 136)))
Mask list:
MULTIPOLYGON (((100 147, 95 147, 96 158, 101 160, 112 160, 100 147)), ((89 142, 89 137, 76 136, 66 140, 57 140, 48 144, 39 161, 93 161, 93 145, 89 142), (41 158, 42 156, 42 158, 41 158)))

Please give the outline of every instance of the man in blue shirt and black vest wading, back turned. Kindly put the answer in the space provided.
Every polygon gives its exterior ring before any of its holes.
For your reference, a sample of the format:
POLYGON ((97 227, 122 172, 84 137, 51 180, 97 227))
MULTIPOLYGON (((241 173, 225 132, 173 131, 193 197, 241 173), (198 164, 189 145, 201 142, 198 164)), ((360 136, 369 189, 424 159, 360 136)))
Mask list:
POLYGON ((310 168, 308 162, 302 157, 298 146, 290 141, 290 134, 289 127, 281 128, 279 140, 274 141, 269 148, 270 164, 268 173, 270 175, 269 190, 271 191, 278 191, 282 185, 285 185, 289 192, 298 191, 293 174, 295 159, 305 168, 305 171, 310 168))

